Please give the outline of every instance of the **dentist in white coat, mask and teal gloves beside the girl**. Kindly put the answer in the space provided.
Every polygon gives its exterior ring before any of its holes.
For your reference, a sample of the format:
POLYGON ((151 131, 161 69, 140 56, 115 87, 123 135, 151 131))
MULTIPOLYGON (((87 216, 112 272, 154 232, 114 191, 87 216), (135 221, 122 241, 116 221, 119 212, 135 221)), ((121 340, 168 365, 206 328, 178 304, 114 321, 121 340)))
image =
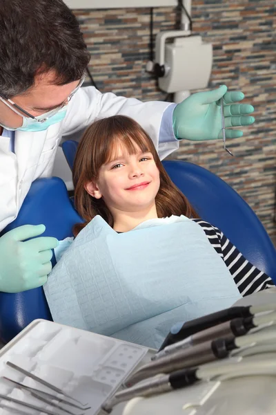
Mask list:
MULTIPOLYGON (((16 219, 32 182, 51 176, 61 138, 95 118, 134 118, 160 158, 177 149, 180 139, 218 138, 222 96, 226 127, 254 122, 248 115, 253 107, 239 104, 244 94, 226 92, 226 86, 195 93, 177 106, 81 88, 90 55, 62 0, 1 0, 0 27, 0 232, 16 219)), ((228 129, 226 136, 240 137, 242 131, 228 129)), ((0 237, 0 291, 45 284, 58 242, 39 237, 44 230, 44 225, 24 225, 0 237)))

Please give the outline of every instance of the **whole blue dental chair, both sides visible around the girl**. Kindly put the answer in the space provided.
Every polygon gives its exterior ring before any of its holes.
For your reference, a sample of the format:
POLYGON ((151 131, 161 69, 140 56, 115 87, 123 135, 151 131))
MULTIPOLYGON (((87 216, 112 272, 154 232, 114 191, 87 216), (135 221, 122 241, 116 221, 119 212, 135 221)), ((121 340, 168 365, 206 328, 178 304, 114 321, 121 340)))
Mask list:
MULTIPOLYGON (((77 142, 63 143, 72 168, 77 142)), ((164 161, 172 181, 184 192, 202 219, 219 227, 252 264, 276 282, 276 251, 264 226, 248 204, 229 185, 203 167, 180 160, 164 161)), ((20 225, 44 223, 44 236, 61 240, 72 236, 81 218, 60 178, 32 183, 17 219, 3 233, 20 225)), ((55 265, 55 259, 53 260, 55 265)), ((0 339, 8 342, 32 320, 52 320, 43 288, 18 294, 0 293, 0 339)))

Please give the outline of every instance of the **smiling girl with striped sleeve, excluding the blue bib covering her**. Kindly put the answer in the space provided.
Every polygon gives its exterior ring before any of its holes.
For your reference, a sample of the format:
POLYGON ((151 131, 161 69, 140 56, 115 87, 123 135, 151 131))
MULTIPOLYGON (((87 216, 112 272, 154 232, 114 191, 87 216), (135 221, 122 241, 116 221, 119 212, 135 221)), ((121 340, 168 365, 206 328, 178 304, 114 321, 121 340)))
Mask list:
POLYGON ((135 120, 112 116, 88 127, 77 149, 73 181, 75 206, 85 220, 75 226, 75 236, 98 214, 117 232, 128 232, 148 219, 185 215, 204 230, 243 296, 274 285, 221 230, 197 219, 135 120))

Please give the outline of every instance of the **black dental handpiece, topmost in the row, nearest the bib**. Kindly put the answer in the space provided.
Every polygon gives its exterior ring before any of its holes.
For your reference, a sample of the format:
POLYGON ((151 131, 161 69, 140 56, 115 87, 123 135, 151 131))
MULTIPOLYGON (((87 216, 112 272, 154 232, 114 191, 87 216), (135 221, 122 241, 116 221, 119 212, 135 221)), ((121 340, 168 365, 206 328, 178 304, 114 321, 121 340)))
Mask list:
POLYGON ((161 345, 159 351, 169 346, 170 344, 184 340, 188 338, 188 336, 193 335, 199 331, 209 329, 216 324, 224 323, 237 317, 253 317, 257 313, 275 311, 275 309, 276 303, 260 304, 258 306, 234 306, 225 308, 221 311, 217 311, 216 313, 211 313, 194 320, 190 320, 184 323, 180 328, 177 326, 177 329, 171 330, 161 345))

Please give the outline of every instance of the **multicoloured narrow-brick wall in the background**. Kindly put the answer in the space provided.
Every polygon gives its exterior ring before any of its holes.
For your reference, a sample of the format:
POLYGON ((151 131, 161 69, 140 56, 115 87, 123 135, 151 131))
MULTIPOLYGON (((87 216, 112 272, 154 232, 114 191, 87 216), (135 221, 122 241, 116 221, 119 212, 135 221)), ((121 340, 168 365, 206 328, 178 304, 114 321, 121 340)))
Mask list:
MULTIPOLYGON (((146 73, 150 9, 75 10, 91 53, 90 70, 100 91, 141 100, 164 100, 146 73)), ((228 140, 183 141, 175 158, 206 167, 230 184, 255 210, 270 234, 275 230, 276 6, 275 1, 193 0, 194 33, 211 42, 213 71, 208 89, 226 84, 242 90, 255 107, 255 124, 228 140)), ((154 33, 175 28, 174 8, 154 9, 154 33)), ((194 91, 193 91, 194 92, 194 91)))

